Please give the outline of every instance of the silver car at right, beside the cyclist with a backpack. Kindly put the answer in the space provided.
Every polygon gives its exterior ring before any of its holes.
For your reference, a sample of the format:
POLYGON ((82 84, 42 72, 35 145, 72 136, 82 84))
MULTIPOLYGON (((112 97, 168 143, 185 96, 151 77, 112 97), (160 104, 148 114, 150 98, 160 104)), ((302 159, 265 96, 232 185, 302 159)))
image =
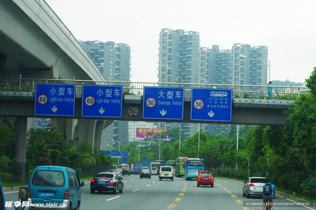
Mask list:
POLYGON ((262 196, 262 187, 266 182, 265 177, 249 177, 242 187, 242 195, 247 198, 250 198, 250 195, 262 196))

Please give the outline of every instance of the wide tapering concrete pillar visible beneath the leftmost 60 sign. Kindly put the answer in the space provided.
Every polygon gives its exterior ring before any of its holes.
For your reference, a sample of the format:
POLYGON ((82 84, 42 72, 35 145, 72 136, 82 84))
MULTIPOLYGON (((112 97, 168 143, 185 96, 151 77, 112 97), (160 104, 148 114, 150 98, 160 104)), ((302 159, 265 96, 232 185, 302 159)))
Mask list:
POLYGON ((76 124, 77 124, 76 119, 51 118, 52 127, 56 128, 56 131, 60 133, 66 133, 67 139, 73 139, 76 124))

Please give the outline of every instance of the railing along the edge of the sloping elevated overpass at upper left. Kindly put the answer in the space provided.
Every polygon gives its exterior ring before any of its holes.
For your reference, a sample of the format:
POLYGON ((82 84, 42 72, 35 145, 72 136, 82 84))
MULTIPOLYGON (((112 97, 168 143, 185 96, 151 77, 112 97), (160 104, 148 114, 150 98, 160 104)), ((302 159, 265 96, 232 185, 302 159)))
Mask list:
POLYGON ((46 11, 52 15, 52 18, 57 22, 57 24, 61 27, 61 29, 64 30, 64 32, 68 35, 68 37, 70 38, 70 40, 78 47, 78 50, 80 50, 83 55, 88 59, 88 61, 91 63, 91 65, 94 67, 95 71, 99 72, 100 77, 103 77, 104 80, 105 77, 103 75, 103 73, 100 71, 100 69, 98 68, 98 66, 94 63, 94 60, 92 60, 92 58, 90 57, 90 55, 88 54, 88 52, 81 46, 81 44, 76 40, 75 36, 70 32, 70 30, 66 27, 66 25, 61 21, 61 19, 58 17, 58 15, 52 10, 52 8, 48 5, 48 3, 46 3, 45 0, 35 0, 37 2, 39 2, 43 8, 46 9, 46 11))

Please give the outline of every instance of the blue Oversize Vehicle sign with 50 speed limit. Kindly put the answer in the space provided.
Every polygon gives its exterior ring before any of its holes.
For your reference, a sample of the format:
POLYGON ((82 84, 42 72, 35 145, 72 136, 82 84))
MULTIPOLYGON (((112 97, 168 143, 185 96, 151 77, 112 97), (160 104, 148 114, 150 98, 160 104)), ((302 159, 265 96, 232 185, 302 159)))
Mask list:
POLYGON ((144 87, 143 118, 183 120, 184 88, 144 87))

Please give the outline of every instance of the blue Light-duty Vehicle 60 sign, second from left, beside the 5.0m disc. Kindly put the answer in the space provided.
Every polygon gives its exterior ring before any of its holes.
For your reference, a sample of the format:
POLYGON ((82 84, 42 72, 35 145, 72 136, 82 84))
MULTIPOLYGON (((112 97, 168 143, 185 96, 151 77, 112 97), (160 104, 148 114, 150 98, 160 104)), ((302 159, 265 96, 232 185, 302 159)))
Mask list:
POLYGON ((82 85, 82 117, 122 117, 123 86, 82 85))

